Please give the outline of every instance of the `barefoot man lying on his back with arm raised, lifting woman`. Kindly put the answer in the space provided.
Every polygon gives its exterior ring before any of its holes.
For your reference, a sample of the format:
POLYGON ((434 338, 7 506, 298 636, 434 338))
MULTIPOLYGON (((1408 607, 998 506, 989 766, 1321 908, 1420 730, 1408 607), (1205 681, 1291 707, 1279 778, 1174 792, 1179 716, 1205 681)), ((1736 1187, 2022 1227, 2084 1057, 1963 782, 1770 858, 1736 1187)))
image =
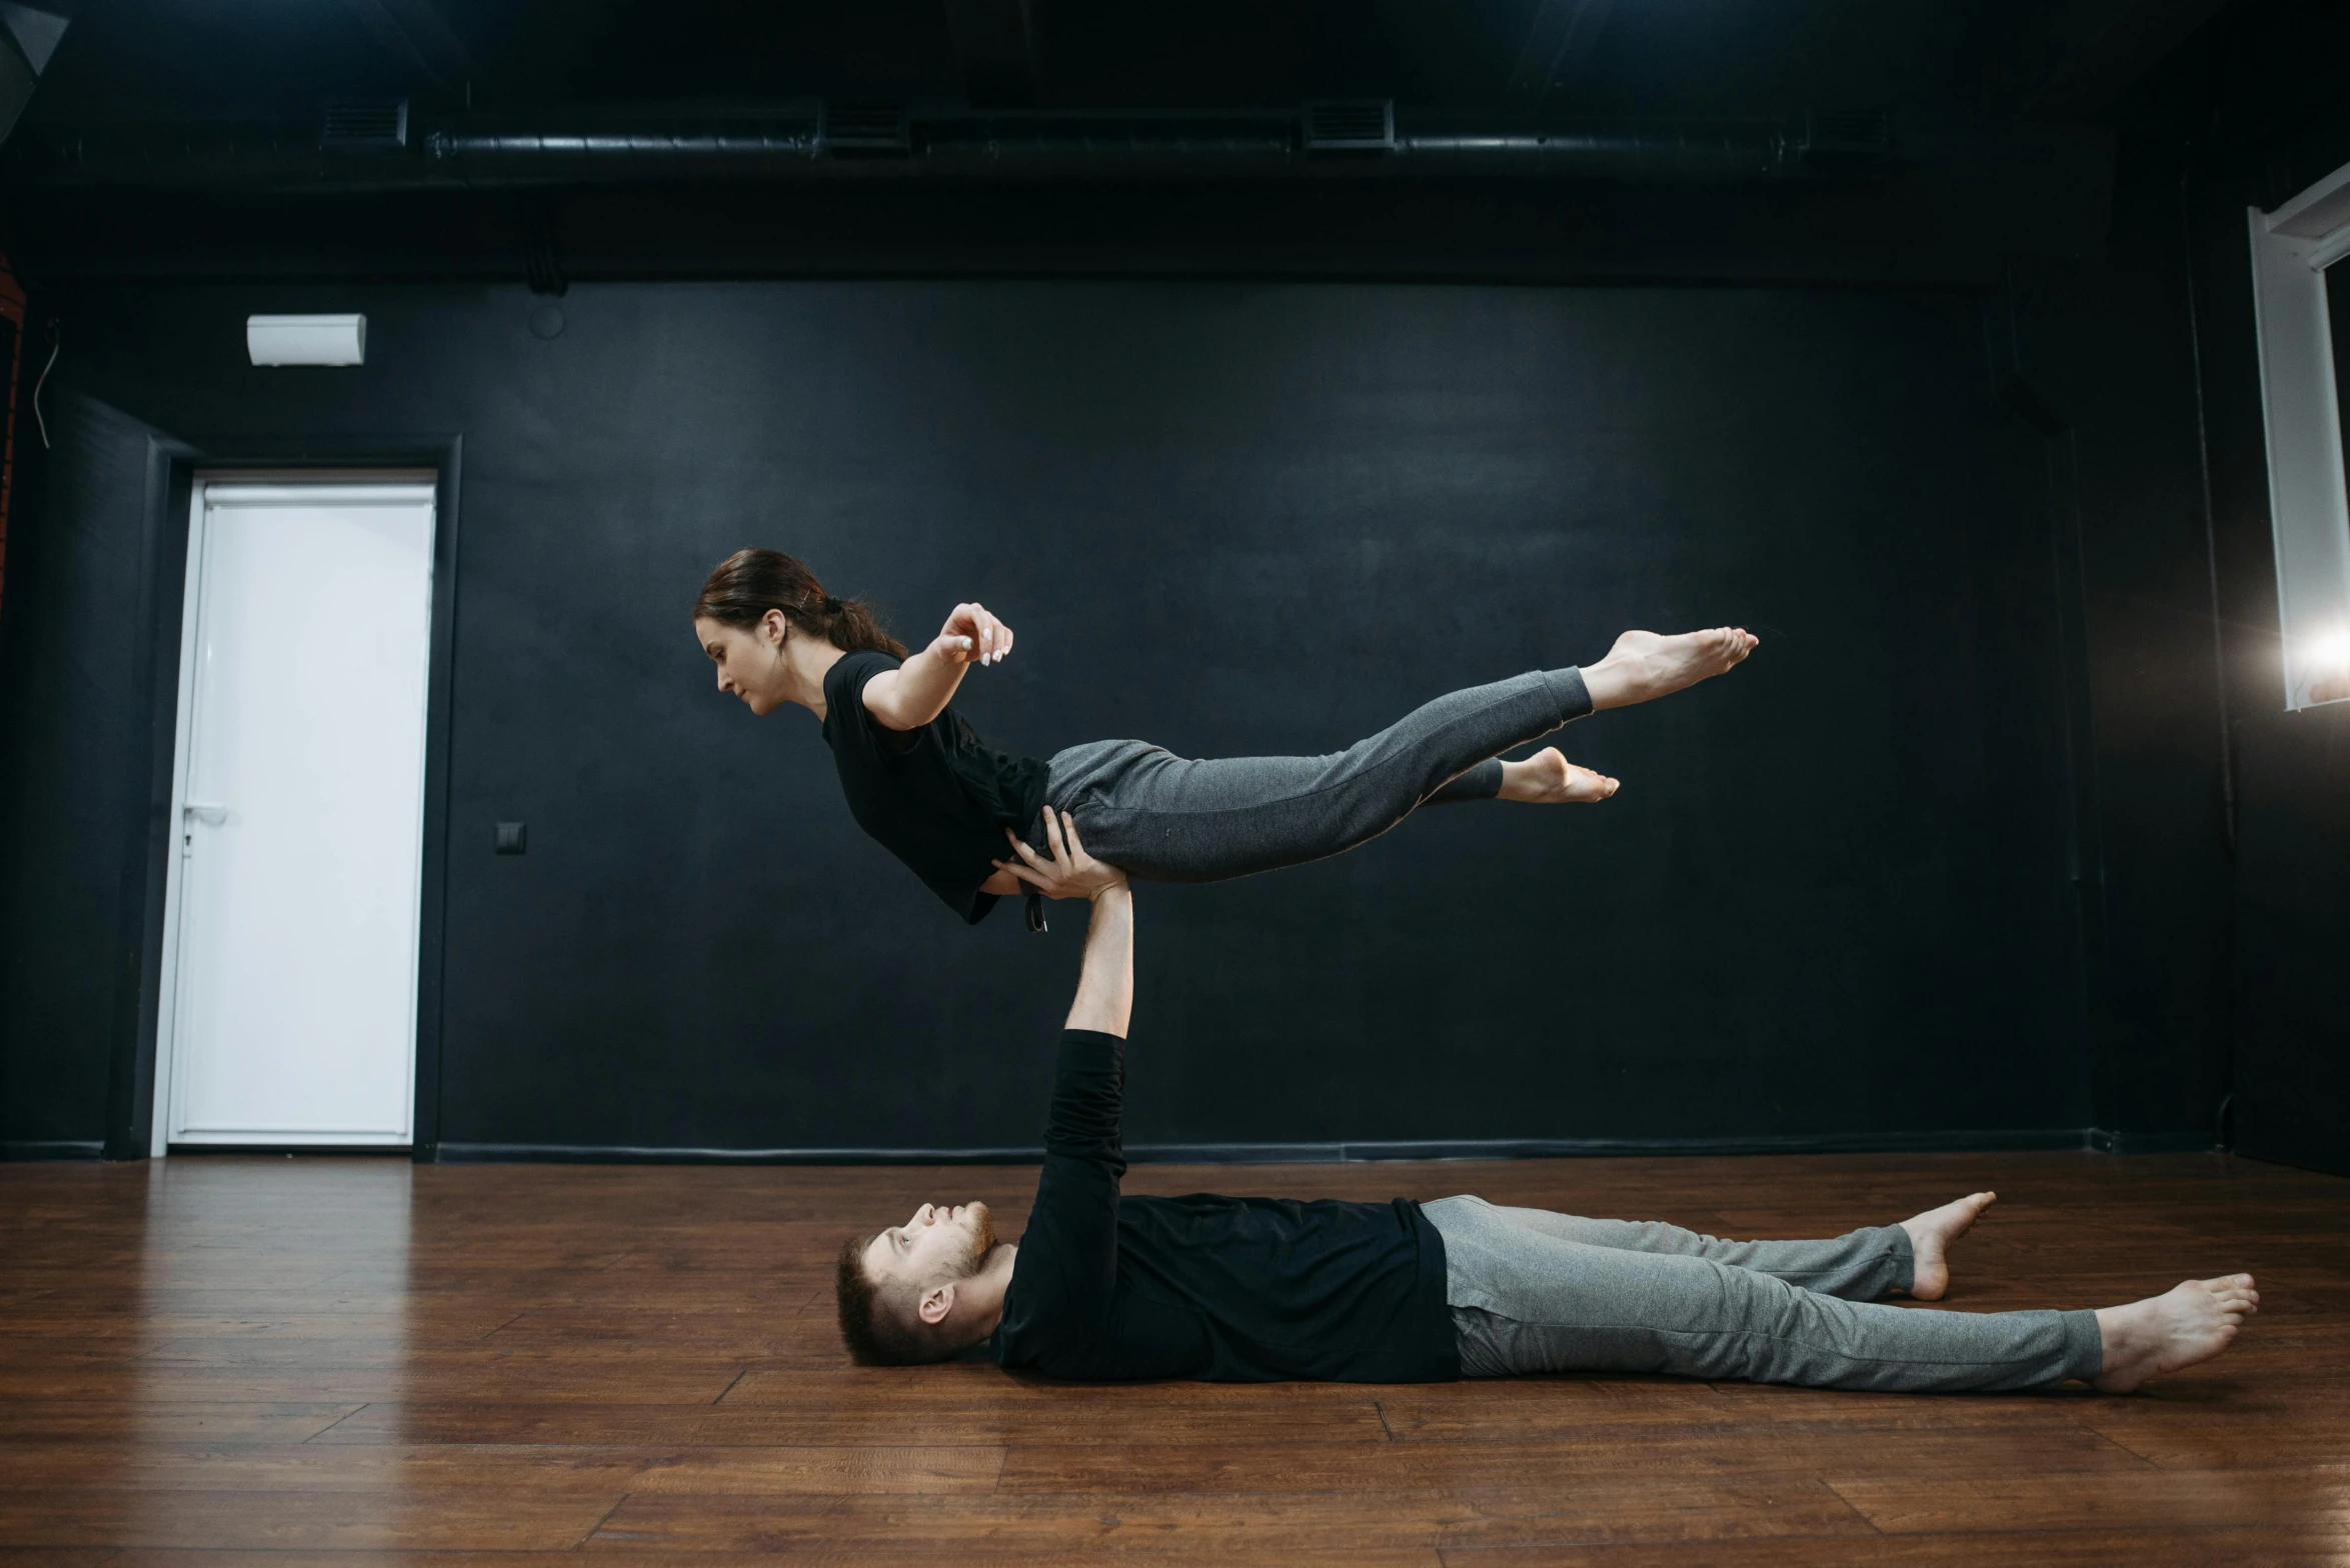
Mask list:
POLYGON ((2099 1312, 1911 1312, 1990 1192, 1831 1242, 1718 1242, 1661 1223, 1431 1204, 1121 1197, 1133 894, 1046 812, 1032 878, 1093 899, 1027 1235, 924 1204, 841 1249, 862 1364, 985 1357, 1050 1378, 1426 1383, 1664 1371, 1861 1390, 2131 1390, 2207 1361, 2258 1307, 2251 1275, 2099 1312))

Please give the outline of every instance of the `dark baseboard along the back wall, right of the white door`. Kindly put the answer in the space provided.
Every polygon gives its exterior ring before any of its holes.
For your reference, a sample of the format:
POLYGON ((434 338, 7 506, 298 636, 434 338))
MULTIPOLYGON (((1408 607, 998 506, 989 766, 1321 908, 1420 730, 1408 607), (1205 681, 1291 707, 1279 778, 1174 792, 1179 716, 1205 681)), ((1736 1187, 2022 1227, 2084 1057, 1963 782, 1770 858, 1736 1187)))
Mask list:
MULTIPOLYGON (((1746 1138, 1412 1138, 1347 1143, 1128 1143, 1133 1164, 1356 1164, 1368 1160, 1582 1160, 1624 1155, 1929 1155, 1929 1153, 2188 1153, 2207 1134, 2115 1134, 2101 1127, 2007 1127, 1746 1138)), ((1041 1148, 639 1148, 620 1143, 439 1143, 444 1164, 1036 1164, 1041 1148)))

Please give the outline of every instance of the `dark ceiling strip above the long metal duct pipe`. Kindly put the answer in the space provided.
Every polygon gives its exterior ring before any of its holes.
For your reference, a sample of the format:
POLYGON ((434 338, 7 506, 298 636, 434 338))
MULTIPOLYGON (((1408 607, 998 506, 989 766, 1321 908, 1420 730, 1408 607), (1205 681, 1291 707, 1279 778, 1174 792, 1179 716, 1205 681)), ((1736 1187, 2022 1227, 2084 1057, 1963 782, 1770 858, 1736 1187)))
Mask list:
POLYGON ((94 0, 31 124, 888 101, 1483 122, 2094 115, 2216 0, 94 0))

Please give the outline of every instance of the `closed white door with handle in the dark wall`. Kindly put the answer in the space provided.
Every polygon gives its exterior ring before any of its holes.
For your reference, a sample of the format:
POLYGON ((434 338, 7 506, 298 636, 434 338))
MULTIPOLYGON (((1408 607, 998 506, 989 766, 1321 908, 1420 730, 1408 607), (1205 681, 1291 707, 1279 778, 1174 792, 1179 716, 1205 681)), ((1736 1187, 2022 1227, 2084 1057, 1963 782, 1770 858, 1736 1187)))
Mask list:
POLYGON ((407 1143, 430 484, 197 481, 172 1143, 407 1143))

